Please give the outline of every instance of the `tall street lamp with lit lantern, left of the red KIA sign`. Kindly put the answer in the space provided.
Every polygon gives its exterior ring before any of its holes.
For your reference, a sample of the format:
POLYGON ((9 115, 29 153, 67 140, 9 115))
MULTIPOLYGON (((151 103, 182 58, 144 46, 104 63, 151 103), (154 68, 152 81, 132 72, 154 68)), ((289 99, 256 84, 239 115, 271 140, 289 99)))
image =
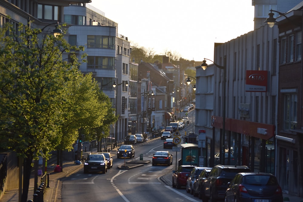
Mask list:
MULTIPOLYGON (((208 67, 208 65, 206 64, 206 60, 211 61, 210 59, 206 59, 204 58, 203 63, 201 64, 200 67, 203 68, 203 70, 206 70, 206 68, 208 67)), ((225 105, 226 105, 226 98, 225 98, 225 93, 226 93, 226 89, 225 89, 225 84, 226 84, 226 56, 224 56, 224 65, 218 65, 216 64, 214 61, 211 61, 216 67, 223 69, 223 79, 222 79, 222 90, 223 90, 223 126, 222 126, 222 133, 220 133, 220 163, 221 165, 225 164, 225 105)), ((213 142, 215 143, 215 141, 213 140, 213 142)), ((230 152, 230 151, 228 151, 230 152)))

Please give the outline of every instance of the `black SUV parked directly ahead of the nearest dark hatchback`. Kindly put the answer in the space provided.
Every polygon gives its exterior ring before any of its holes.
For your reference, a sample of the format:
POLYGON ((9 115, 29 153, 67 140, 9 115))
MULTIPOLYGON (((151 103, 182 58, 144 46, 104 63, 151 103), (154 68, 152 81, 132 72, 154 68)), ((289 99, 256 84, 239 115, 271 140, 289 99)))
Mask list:
POLYGON ((236 174, 250 172, 247 166, 216 165, 203 184, 202 201, 217 201, 225 199, 225 191, 236 174))

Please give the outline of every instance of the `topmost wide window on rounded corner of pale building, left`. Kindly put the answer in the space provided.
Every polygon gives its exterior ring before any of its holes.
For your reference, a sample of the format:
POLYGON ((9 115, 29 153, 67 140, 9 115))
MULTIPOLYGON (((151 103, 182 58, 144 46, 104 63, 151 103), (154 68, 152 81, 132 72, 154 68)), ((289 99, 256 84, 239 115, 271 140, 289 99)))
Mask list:
POLYGON ((115 49, 115 37, 87 35, 87 48, 115 49))

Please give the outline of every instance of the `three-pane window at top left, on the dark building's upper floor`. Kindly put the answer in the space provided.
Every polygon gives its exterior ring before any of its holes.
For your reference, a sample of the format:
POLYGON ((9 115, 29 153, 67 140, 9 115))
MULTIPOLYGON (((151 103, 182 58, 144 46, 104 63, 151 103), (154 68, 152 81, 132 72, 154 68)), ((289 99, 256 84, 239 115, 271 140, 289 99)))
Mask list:
POLYGON ((38 19, 43 20, 58 20, 59 19, 59 8, 54 5, 43 5, 38 4, 38 19))

